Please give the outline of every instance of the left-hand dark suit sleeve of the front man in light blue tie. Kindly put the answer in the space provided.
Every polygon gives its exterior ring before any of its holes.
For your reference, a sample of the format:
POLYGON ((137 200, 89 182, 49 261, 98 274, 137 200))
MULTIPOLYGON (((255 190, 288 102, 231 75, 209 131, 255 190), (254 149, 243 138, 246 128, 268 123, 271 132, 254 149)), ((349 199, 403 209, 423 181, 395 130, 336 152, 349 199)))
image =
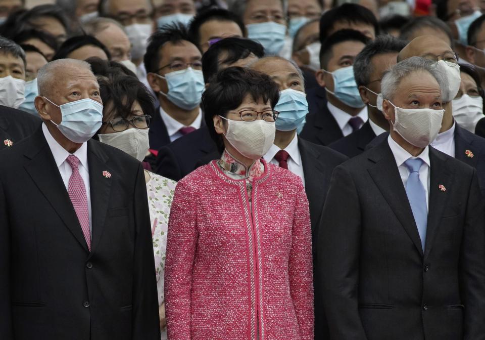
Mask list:
POLYGON ((365 340, 358 311, 361 211, 351 175, 335 167, 319 225, 317 271, 332 340, 365 340))

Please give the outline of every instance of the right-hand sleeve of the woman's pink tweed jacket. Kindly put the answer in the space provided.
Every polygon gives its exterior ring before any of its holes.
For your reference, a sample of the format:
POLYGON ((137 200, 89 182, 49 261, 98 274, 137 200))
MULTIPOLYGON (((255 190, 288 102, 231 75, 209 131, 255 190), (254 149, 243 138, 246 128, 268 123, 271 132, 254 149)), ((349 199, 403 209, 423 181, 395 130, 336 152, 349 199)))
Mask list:
POLYGON ((289 289, 302 340, 313 340, 312 230, 308 199, 300 182, 293 218, 292 248, 289 253, 289 289))

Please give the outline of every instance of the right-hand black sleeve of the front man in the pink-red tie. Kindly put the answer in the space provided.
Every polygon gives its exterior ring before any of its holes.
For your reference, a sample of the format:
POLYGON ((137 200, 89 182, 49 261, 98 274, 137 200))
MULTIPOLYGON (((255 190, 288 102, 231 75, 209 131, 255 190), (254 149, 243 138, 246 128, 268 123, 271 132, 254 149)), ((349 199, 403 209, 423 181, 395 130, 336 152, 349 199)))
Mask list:
POLYGON ((147 185, 141 164, 136 176, 133 209, 136 234, 133 259, 132 338, 160 340, 150 212, 147 185))

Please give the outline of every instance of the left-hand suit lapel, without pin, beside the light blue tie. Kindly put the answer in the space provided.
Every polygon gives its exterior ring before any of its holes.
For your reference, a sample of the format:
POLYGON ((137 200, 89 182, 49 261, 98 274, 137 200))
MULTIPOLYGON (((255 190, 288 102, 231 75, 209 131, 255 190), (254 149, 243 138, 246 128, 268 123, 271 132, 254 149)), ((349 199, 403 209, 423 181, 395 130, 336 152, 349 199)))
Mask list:
POLYGON ((375 165, 368 169, 370 176, 422 256, 423 249, 418 228, 396 165, 396 159, 387 140, 372 148, 368 158, 375 162, 375 165))

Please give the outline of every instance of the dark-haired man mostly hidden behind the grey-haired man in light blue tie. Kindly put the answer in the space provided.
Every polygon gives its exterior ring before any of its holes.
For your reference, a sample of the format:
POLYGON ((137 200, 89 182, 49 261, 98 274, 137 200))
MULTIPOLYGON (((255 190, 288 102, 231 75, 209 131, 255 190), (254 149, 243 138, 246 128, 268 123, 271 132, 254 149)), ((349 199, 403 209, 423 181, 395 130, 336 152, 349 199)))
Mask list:
POLYGON ((329 145, 330 148, 348 157, 361 154, 375 136, 389 131, 389 123, 377 108, 380 79, 384 72, 396 65, 398 53, 406 43, 392 35, 378 36, 364 47, 354 61, 354 76, 360 97, 367 105, 369 119, 362 128, 329 145))

